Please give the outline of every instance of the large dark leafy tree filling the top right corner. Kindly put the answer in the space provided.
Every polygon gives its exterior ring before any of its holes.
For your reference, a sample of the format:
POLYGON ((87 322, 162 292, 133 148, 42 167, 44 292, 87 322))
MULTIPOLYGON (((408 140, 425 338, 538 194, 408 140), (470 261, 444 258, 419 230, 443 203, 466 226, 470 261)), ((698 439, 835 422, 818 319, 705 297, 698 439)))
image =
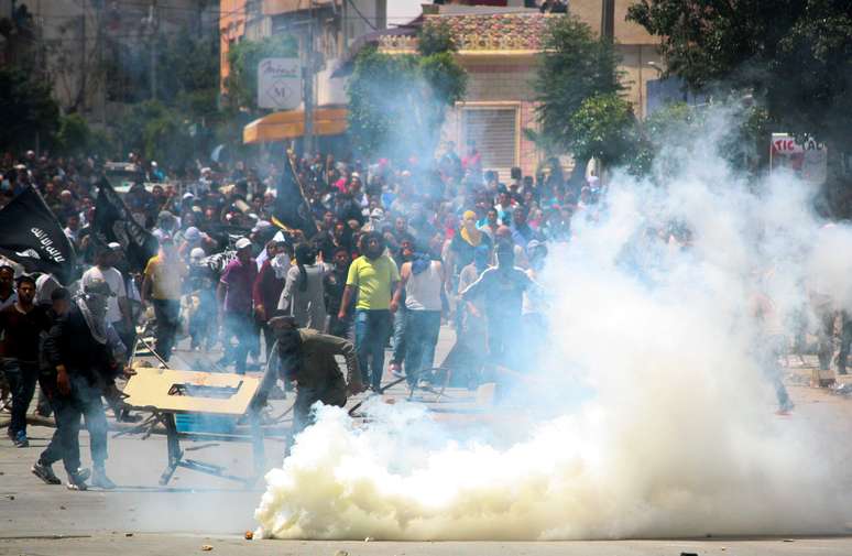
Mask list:
POLYGON ((852 138, 849 0, 641 0, 627 17, 690 87, 751 91, 779 129, 852 138))

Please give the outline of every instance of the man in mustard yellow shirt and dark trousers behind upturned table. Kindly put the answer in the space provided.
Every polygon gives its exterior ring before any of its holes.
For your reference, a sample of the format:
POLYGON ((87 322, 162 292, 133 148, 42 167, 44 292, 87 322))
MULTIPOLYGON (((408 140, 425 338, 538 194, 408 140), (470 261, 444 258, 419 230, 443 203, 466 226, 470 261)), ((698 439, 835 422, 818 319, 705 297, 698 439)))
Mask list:
POLYGON ((148 261, 142 281, 142 303, 150 301, 154 305, 154 349, 164 361, 168 361, 175 345, 181 315, 181 284, 186 273, 186 265, 175 249, 174 240, 164 236, 160 240, 160 253, 148 261))

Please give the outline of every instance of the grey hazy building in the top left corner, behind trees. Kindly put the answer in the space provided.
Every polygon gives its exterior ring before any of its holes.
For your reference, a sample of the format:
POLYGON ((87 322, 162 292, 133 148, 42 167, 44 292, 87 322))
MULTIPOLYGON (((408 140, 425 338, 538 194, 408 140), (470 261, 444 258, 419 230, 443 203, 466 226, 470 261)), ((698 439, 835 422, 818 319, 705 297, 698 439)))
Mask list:
POLYGON ((216 32, 219 2, 3 0, 3 18, 24 31, 4 44, 6 61, 48 80, 64 112, 106 124, 125 103, 151 96, 164 41, 216 32))

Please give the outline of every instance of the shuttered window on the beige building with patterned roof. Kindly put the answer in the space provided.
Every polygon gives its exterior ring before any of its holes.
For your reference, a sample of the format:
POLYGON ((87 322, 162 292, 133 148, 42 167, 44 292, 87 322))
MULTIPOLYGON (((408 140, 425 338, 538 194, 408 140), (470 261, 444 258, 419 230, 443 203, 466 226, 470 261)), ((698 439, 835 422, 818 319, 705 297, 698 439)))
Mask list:
POLYGON ((483 170, 500 171, 502 176, 517 165, 516 107, 465 107, 461 133, 465 150, 471 143, 477 145, 483 170))

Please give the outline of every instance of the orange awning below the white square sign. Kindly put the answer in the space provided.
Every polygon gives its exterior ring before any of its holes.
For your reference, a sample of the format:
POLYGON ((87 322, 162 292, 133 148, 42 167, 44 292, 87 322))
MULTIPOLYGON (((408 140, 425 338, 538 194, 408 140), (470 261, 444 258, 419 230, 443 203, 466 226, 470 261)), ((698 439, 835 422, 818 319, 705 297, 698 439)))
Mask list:
MULTIPOLYGON (((346 108, 317 108, 314 111, 315 135, 339 135, 347 128, 346 108)), ((245 144, 285 141, 305 134, 304 110, 285 110, 256 119, 242 129, 245 144)))

